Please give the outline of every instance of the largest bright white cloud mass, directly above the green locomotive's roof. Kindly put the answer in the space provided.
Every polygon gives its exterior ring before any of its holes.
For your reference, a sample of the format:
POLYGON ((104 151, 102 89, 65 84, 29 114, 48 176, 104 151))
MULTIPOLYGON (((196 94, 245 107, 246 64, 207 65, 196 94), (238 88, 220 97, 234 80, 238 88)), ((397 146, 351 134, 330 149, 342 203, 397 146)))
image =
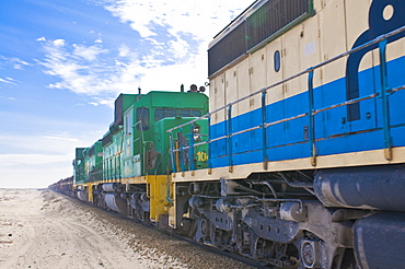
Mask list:
POLYGON ((144 93, 178 91, 182 83, 202 85, 211 37, 251 0, 104 0, 102 4, 140 34, 139 46, 106 42, 100 33, 93 45, 44 40, 45 60, 39 63, 46 74, 59 78, 49 87, 85 94, 94 105, 111 106, 119 93, 136 93, 139 85, 144 93))

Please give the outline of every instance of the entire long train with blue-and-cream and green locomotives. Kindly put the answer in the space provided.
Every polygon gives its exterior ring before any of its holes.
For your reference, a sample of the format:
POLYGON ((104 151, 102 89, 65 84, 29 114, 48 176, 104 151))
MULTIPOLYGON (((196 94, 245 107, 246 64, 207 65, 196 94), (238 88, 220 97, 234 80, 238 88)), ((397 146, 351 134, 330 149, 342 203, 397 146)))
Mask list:
POLYGON ((270 268, 404 268, 405 2, 257 0, 209 100, 121 94, 51 187, 270 268))

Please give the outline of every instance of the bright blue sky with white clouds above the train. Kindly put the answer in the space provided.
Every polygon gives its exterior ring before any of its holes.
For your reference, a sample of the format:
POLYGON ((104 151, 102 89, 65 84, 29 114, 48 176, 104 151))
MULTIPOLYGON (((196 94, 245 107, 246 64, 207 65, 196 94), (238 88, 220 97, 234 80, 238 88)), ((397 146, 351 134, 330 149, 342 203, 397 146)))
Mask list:
POLYGON ((0 188, 71 176, 119 93, 204 85, 209 42, 253 0, 163 2, 1 1, 0 188))

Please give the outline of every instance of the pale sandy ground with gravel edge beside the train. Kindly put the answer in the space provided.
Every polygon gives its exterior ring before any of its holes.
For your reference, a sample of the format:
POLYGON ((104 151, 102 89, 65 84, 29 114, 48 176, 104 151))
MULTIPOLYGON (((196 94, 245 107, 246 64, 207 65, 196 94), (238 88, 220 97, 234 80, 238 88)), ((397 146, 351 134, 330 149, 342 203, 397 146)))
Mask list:
POLYGON ((0 268, 246 268, 50 190, 0 189, 0 268))

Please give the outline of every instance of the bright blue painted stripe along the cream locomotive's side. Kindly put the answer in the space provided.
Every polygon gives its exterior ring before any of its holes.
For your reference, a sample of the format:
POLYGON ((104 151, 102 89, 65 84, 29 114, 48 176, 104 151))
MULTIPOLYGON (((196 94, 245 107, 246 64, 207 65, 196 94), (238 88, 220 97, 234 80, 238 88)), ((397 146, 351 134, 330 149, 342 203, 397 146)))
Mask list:
MULTIPOLYGON (((405 84, 405 57, 387 62, 389 86, 405 84)), ((380 67, 359 72, 360 96, 380 91, 380 67)), ((308 92, 266 106, 267 122, 308 113, 308 92)), ((346 101, 346 78, 314 89, 314 108, 320 109, 346 101)), ((405 90, 389 96, 393 147, 405 145, 405 90)), ((345 106, 315 115, 316 155, 383 149, 381 98, 360 103, 360 119, 347 120, 345 106)), ((232 118, 232 132, 262 124, 262 108, 232 118)), ((269 161, 311 156, 308 128, 309 117, 293 119, 267 128, 269 161)), ((227 134, 227 121, 210 127, 211 139, 227 134)), ((211 143, 212 167, 228 166, 227 139, 211 143)), ((234 165, 263 161, 263 131, 261 129, 232 137, 234 165)))

